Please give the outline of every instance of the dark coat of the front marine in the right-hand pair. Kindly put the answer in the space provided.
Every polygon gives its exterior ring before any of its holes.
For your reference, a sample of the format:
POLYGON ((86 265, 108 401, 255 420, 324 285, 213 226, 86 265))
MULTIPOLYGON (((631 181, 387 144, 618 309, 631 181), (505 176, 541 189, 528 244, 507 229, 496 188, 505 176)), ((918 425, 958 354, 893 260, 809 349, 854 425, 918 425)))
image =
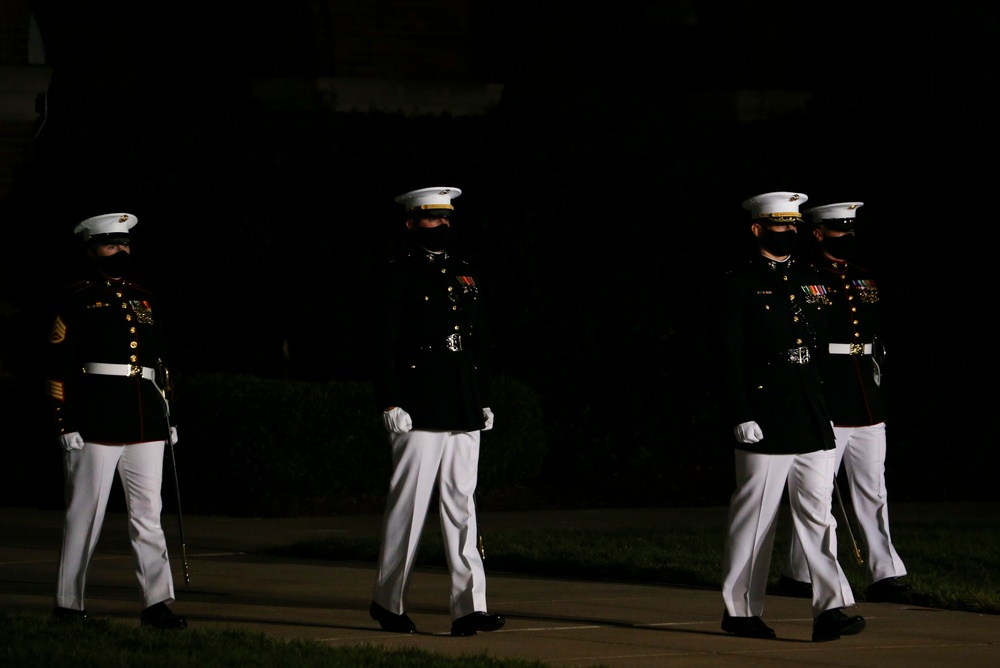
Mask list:
POLYGON ((824 293, 819 272, 794 259, 755 255, 724 276, 713 350, 723 415, 730 429, 753 420, 764 434, 737 448, 769 454, 834 448, 819 364, 827 350, 824 293), (789 351, 802 348, 809 363, 791 363, 802 354, 789 351))

